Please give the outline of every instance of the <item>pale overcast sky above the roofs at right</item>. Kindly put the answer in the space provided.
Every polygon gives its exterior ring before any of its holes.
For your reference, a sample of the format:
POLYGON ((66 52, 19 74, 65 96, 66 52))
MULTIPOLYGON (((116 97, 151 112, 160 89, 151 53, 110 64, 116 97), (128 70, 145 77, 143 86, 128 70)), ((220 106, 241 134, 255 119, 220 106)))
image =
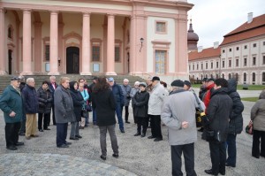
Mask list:
MULTIPOLYGON (((198 46, 213 47, 223 42, 223 35, 230 33, 247 20, 247 13, 257 17, 265 13, 265 0, 187 0, 194 4, 188 11, 193 19, 193 30, 199 35, 198 46)), ((188 21, 188 24, 190 21, 188 21)), ((189 27, 189 26, 188 26, 189 27)))

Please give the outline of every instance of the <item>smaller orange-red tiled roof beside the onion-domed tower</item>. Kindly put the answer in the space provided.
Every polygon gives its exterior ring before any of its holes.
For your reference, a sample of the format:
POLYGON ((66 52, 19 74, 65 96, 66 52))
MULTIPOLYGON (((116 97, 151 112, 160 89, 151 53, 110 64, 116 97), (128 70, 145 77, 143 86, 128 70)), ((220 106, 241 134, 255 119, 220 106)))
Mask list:
POLYGON ((208 57, 219 57, 221 54, 221 49, 218 47, 217 49, 208 48, 201 50, 201 52, 198 51, 192 51, 188 54, 189 60, 197 60, 201 58, 208 58, 208 57))

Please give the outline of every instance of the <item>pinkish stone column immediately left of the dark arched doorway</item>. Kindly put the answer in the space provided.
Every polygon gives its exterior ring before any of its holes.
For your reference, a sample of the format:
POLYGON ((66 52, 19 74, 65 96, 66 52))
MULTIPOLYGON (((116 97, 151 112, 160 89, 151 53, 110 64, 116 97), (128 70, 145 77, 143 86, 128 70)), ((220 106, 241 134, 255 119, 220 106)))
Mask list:
POLYGON ((58 75, 58 11, 50 11, 49 75, 58 75))

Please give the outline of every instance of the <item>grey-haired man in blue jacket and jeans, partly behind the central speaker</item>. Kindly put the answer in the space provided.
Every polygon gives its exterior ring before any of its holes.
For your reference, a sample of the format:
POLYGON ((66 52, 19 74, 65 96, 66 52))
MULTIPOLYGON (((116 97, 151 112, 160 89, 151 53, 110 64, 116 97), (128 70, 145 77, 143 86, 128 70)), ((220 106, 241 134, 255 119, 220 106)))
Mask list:
POLYGON ((110 84, 110 89, 112 90, 112 94, 114 95, 115 102, 116 102, 116 114, 117 114, 117 121, 119 125, 119 130, 121 133, 125 133, 124 121, 122 118, 122 111, 121 107, 125 104, 125 98, 123 94, 123 90, 119 85, 116 84, 113 78, 108 79, 110 84))

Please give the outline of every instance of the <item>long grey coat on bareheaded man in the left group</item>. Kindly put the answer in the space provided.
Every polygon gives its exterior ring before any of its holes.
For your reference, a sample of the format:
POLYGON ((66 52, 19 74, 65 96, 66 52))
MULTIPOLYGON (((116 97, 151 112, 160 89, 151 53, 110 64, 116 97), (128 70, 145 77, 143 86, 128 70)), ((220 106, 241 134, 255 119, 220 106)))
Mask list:
POLYGON ((57 87, 54 92, 54 108, 57 123, 75 121, 72 96, 69 89, 66 89, 61 85, 57 87))

